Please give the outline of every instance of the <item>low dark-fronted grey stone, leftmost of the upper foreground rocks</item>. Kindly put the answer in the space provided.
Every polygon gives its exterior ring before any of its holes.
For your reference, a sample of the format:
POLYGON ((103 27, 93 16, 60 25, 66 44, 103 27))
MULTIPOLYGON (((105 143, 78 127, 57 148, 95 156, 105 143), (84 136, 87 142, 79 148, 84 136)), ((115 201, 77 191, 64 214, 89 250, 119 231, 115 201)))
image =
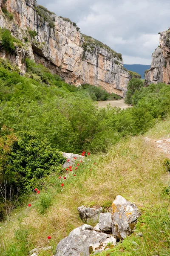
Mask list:
POLYGON ((85 221, 98 221, 99 214, 102 212, 102 207, 96 209, 96 208, 90 208, 85 207, 84 205, 77 208, 79 211, 80 218, 85 221))

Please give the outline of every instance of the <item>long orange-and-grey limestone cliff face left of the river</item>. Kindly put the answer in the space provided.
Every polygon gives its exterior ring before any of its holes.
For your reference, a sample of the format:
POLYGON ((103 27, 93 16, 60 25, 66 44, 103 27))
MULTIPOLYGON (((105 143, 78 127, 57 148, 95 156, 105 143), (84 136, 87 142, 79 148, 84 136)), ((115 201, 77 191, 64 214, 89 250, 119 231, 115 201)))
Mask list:
POLYGON ((95 40, 83 48, 85 38, 76 24, 38 6, 36 0, 0 0, 0 27, 9 29, 24 45, 16 45, 13 55, 0 47, 0 58, 15 61, 22 72, 28 57, 70 84, 89 83, 125 96, 130 74, 123 68, 121 55, 100 47, 95 40), (13 14, 12 20, 4 9, 13 14))

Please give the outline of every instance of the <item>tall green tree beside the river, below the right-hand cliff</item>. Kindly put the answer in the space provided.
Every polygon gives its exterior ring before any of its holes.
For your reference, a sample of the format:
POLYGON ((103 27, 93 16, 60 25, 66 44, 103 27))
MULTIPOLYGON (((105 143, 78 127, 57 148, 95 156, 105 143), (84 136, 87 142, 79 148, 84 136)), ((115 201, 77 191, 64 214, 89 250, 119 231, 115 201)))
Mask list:
POLYGON ((133 94, 135 93, 136 90, 139 91, 139 89, 143 86, 144 86, 144 82, 141 79, 132 78, 127 84, 127 93, 125 97, 125 103, 132 104, 133 94))

